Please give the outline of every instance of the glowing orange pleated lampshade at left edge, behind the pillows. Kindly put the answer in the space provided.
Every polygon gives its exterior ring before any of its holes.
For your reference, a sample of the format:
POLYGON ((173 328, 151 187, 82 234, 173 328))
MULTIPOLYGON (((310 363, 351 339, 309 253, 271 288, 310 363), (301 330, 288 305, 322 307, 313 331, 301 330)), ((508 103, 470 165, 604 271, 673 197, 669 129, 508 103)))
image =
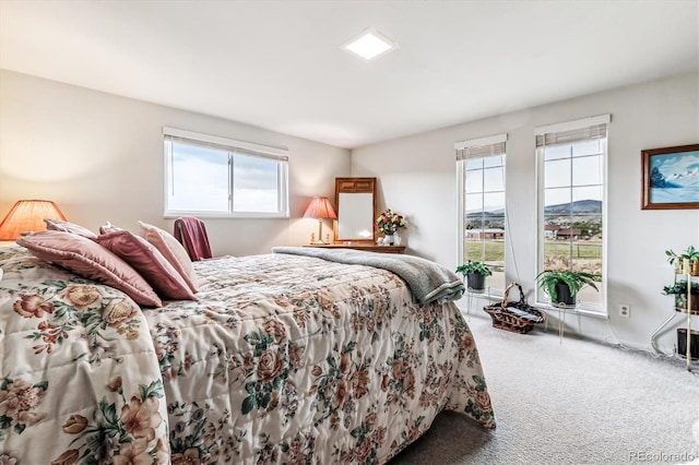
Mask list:
POLYGON ((0 223, 0 240, 15 240, 29 231, 43 231, 46 229, 44 218, 66 220, 50 200, 20 200, 0 223))

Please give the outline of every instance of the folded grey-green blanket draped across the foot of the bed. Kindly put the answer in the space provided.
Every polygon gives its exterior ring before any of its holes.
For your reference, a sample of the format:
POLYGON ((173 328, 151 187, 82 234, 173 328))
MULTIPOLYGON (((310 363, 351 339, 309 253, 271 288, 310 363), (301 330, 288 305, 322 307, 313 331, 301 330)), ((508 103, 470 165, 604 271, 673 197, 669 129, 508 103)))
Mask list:
POLYGON ((414 255, 303 247, 274 247, 272 252, 316 257, 348 265, 365 265, 388 270, 405 281, 418 303, 443 303, 450 300, 459 300, 466 290, 463 282, 454 272, 438 263, 414 255))

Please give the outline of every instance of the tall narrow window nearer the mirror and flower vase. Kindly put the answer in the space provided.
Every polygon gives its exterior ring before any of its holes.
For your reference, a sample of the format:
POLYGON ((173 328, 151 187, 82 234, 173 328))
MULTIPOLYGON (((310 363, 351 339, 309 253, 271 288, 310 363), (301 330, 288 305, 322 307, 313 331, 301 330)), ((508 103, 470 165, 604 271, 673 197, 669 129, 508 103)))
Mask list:
POLYGON ((505 144, 507 134, 454 144, 459 181, 459 262, 490 267, 490 290, 505 290, 505 144))

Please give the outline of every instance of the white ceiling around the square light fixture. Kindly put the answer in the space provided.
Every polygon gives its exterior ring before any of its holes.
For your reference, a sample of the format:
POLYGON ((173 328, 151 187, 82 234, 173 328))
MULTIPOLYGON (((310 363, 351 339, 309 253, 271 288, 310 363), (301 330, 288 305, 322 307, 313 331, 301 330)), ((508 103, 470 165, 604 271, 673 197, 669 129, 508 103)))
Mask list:
POLYGON ((699 0, 0 0, 0 68, 353 148, 697 71, 699 0))

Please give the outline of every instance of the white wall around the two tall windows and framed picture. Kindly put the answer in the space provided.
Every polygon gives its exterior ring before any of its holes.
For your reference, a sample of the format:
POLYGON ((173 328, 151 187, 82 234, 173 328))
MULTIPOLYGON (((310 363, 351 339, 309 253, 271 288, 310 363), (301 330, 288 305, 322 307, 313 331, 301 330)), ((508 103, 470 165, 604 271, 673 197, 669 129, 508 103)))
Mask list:
MULTIPOLYGON (((419 109, 415 109, 419 111, 419 109)), ((699 211, 641 211, 643 148, 699 142, 699 75, 689 74, 554 103, 354 150, 353 176, 379 178, 380 206, 407 215, 412 253, 448 266, 457 257, 457 176, 453 144, 507 132, 508 282, 534 289, 536 263, 536 177, 534 128, 612 114, 607 172, 608 320, 572 317, 570 327, 587 336, 650 349, 650 335, 670 317, 673 281, 666 249, 699 247, 699 211), (514 253, 512 253, 512 250, 514 253), (620 319, 619 303, 631 306, 620 319)), ((463 299, 465 300, 465 299, 463 299)), ((530 300, 531 302, 531 300, 530 300)), ((462 302, 465 305, 464 302, 462 302)), ((482 305, 482 303, 479 303, 482 305)), ((485 313, 484 313, 485 314, 485 313)), ((683 315, 684 317, 684 315, 683 315)), ((659 339, 672 350, 676 327, 659 339)), ((699 327, 699 319, 694 319, 699 327)))

